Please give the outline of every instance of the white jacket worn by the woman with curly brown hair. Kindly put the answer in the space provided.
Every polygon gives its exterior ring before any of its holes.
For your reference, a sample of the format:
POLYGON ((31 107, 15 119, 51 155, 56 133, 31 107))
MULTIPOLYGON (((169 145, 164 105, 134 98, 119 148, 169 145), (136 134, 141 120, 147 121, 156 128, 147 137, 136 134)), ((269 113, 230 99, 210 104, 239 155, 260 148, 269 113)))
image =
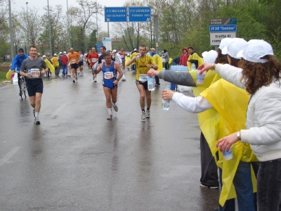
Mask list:
MULTIPOLYGON (((231 65, 216 65, 216 72, 237 87, 242 69, 231 65)), ((250 143, 251 150, 260 161, 281 158, 281 84, 272 82, 261 87, 252 96, 247 110, 247 129, 241 130, 241 141, 250 143)))

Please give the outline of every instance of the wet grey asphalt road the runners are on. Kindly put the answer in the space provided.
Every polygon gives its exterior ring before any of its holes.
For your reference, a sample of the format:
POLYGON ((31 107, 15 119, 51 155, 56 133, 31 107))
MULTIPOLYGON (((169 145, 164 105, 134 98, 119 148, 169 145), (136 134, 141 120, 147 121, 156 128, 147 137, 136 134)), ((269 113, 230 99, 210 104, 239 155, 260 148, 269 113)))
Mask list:
POLYGON ((84 69, 76 84, 44 79, 40 125, 18 86, 0 86, 0 210, 214 210, 218 190, 200 187, 197 115, 174 102, 161 110, 167 82, 141 120, 126 72, 106 120, 102 75, 94 83, 84 69))

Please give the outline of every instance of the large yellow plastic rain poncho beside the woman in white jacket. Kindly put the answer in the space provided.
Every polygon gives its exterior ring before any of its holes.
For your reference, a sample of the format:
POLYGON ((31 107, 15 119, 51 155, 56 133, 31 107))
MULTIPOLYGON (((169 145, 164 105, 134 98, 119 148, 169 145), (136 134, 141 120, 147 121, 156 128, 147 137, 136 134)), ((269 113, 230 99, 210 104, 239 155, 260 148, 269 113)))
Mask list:
MULTIPOLYGON (((207 98, 213 106, 213 108, 198 115, 198 119, 200 129, 209 144, 211 153, 216 158, 215 153, 218 151, 218 148, 216 148, 217 140, 233 134, 240 129, 245 129, 249 94, 244 89, 235 87, 235 85, 226 82, 224 79, 219 79, 217 82, 211 84, 208 89, 202 91, 200 96, 207 98)), ((223 188, 219 199, 221 206, 224 205, 226 200, 236 197, 233 177, 235 176, 240 160, 243 162, 259 161, 247 143, 244 144, 241 141, 237 141, 231 146, 231 150, 233 159, 227 161, 224 160, 222 153, 220 151, 218 152, 219 160, 217 165, 223 170, 223 188)), ((256 192, 256 177, 254 176, 253 170, 251 172, 254 192, 256 192)))

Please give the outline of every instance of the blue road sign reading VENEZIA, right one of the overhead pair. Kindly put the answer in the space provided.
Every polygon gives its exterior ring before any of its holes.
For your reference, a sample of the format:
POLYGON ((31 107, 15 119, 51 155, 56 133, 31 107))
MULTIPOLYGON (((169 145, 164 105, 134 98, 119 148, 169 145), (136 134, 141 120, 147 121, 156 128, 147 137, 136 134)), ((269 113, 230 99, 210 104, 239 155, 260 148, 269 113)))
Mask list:
POLYGON ((129 7, 129 22, 150 22, 150 7, 129 7))

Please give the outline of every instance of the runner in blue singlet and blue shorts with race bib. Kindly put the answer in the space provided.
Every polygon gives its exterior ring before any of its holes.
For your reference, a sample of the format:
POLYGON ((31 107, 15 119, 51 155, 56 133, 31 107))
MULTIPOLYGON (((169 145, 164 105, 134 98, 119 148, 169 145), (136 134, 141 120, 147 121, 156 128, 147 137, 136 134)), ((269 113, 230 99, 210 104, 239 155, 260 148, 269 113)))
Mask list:
POLYGON ((105 52, 103 55, 104 63, 100 63, 96 69, 96 74, 103 71, 103 91, 105 92, 106 107, 108 111, 107 120, 112 120, 112 106, 117 112, 118 107, 115 104, 117 101, 117 84, 122 78, 123 72, 120 66, 111 60, 109 52, 105 52), (117 73, 119 72, 118 78, 117 73))

